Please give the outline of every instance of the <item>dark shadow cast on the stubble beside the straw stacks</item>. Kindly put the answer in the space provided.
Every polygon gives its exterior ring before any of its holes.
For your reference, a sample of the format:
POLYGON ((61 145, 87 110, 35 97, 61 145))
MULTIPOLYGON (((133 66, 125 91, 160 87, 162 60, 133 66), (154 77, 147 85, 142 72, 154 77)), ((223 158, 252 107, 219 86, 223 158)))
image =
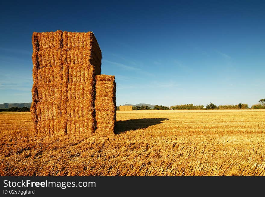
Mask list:
POLYGON ((163 123, 162 121, 164 120, 169 120, 169 119, 167 118, 143 118, 143 119, 120 120, 116 122, 115 133, 120 134, 125 131, 147 128, 152 125, 161 124, 163 123))

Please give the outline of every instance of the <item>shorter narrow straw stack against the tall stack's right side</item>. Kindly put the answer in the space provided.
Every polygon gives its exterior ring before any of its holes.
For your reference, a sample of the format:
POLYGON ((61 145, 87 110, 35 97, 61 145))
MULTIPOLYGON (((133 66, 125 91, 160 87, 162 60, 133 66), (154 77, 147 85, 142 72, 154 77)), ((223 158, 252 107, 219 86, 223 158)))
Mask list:
POLYGON ((116 83, 113 75, 96 76, 96 132, 114 134, 116 123, 116 83))

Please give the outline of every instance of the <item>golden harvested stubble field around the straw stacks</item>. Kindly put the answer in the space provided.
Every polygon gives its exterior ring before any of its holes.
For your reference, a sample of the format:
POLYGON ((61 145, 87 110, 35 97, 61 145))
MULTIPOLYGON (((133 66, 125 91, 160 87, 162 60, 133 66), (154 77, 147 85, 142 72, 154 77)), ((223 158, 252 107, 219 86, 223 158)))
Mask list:
POLYGON ((30 112, 0 113, 0 175, 265 175, 265 110, 116 115, 114 135, 35 137, 30 112))

